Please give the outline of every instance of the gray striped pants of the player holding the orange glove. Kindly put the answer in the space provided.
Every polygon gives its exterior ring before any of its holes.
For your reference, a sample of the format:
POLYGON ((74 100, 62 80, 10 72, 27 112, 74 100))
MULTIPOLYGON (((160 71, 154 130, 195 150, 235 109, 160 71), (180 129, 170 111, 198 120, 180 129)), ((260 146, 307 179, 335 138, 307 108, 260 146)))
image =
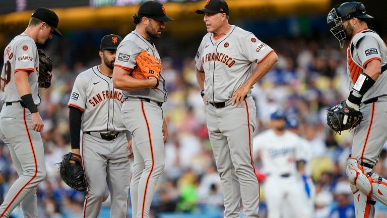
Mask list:
MULTIPOLYGON (((121 118, 136 141, 138 153, 135 156, 141 155, 144 162, 138 182, 136 217, 149 217, 155 187, 164 170, 163 112, 159 106, 150 102, 127 100, 122 105, 121 118)), ((141 161, 141 158, 135 161, 138 160, 141 161)), ((140 170, 141 163, 137 166, 137 170, 140 170)))

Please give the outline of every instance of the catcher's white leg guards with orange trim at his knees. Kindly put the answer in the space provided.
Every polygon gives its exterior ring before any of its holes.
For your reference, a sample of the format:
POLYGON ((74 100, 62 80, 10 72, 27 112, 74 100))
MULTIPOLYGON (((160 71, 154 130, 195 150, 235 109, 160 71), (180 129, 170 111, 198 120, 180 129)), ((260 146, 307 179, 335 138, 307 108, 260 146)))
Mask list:
POLYGON ((371 174, 371 169, 361 167, 352 157, 347 159, 347 176, 349 182, 362 193, 387 206, 387 180, 379 177, 377 173, 371 174))

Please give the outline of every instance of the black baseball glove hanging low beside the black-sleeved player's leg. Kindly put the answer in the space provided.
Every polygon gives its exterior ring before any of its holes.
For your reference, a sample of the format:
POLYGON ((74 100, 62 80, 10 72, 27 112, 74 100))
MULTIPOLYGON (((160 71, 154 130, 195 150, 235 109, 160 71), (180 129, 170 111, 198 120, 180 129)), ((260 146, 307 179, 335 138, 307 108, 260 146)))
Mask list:
POLYGON ((80 155, 69 152, 63 155, 62 161, 57 164, 59 165, 60 177, 64 183, 76 191, 86 191, 87 184, 80 155))

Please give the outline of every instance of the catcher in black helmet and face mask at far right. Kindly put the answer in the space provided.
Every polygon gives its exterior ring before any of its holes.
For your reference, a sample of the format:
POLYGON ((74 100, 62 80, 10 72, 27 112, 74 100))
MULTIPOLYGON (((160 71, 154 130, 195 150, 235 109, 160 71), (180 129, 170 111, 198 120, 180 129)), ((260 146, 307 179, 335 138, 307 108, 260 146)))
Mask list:
POLYGON ((351 111, 363 114, 354 129, 352 154, 347 159, 347 176, 354 195, 356 217, 373 217, 375 200, 387 206, 387 181, 372 168, 387 140, 387 48, 380 36, 368 29, 372 19, 360 2, 345 2, 333 8, 327 17, 331 32, 347 48, 347 72, 350 94, 345 101, 343 125, 351 111))

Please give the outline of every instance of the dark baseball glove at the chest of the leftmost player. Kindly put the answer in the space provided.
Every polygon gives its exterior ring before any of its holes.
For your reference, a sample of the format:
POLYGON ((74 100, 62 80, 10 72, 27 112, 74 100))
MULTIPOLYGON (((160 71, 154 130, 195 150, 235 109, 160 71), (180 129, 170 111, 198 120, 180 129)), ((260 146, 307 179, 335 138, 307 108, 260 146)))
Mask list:
POLYGON ((41 88, 48 88, 51 85, 51 71, 52 62, 51 58, 46 56, 46 53, 42 49, 38 49, 39 54, 39 77, 38 83, 41 88))

